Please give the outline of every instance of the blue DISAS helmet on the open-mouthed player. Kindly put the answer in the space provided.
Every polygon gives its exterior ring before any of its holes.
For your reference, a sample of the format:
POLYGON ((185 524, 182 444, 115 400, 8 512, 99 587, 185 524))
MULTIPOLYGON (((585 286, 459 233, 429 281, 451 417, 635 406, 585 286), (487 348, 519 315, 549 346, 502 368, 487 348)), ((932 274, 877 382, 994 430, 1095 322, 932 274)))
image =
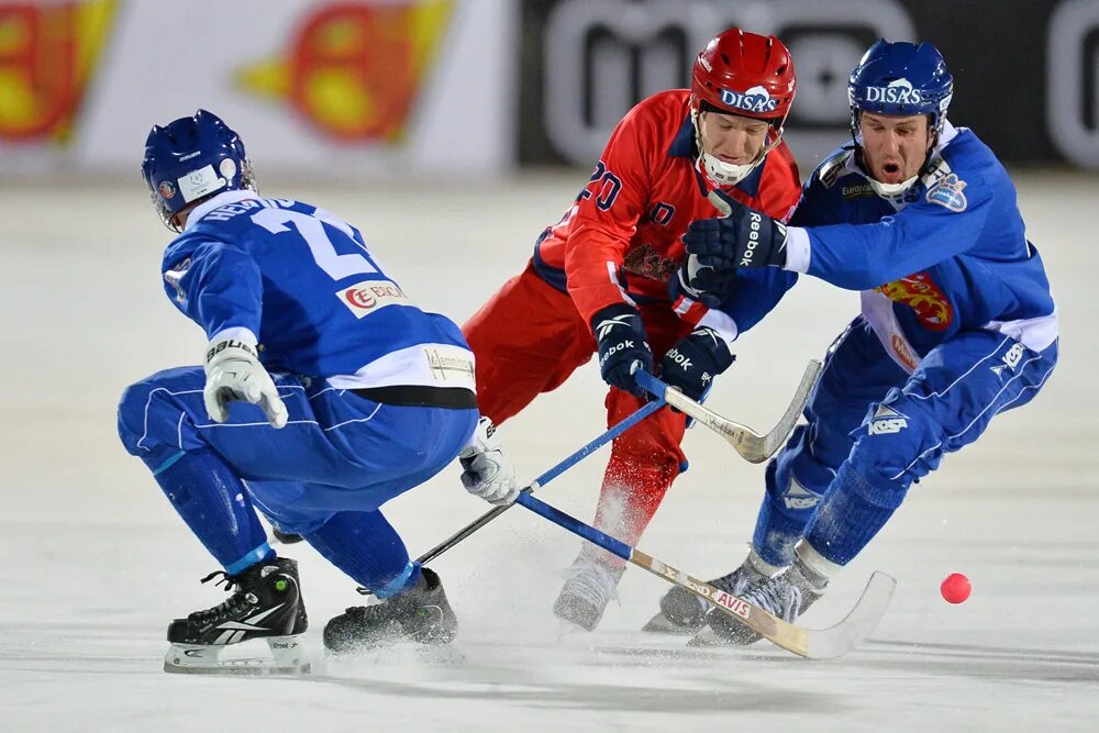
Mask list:
POLYGON ((879 38, 847 79, 852 134, 858 133, 859 112, 930 114, 939 134, 954 93, 954 77, 930 43, 889 43, 879 38))

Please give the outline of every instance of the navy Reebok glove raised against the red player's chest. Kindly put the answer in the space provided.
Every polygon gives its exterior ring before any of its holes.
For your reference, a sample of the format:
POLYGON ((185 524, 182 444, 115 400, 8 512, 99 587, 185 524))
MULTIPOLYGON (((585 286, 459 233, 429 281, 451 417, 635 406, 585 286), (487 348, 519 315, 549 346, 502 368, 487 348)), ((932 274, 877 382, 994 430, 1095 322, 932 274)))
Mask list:
POLYGON ((721 191, 717 196, 731 209, 728 216, 698 219, 684 234, 684 247, 698 257, 700 269, 687 285, 696 290, 713 286, 714 278, 730 275, 735 267, 782 267, 786 264, 786 226, 767 214, 734 201, 721 191), (702 276, 702 277, 699 277, 702 276))

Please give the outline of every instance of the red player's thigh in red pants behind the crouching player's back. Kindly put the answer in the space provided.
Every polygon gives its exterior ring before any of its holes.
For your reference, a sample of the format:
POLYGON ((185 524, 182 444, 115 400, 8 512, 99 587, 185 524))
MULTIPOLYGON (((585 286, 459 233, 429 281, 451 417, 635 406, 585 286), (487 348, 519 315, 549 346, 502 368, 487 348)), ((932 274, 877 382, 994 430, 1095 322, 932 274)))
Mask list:
POLYGON ((497 425, 559 387, 596 351, 571 299, 533 266, 504 284, 462 332, 477 358, 481 414, 497 425))

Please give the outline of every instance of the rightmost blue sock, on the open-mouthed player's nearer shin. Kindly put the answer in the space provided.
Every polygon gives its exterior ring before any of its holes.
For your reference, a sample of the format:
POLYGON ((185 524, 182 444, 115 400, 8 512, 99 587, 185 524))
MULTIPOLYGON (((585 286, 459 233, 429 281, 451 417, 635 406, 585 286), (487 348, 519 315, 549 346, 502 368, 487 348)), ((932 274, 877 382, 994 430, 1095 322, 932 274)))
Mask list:
POLYGON ((907 493, 900 484, 874 486, 844 463, 806 526, 806 542, 825 559, 846 565, 885 526, 907 493))

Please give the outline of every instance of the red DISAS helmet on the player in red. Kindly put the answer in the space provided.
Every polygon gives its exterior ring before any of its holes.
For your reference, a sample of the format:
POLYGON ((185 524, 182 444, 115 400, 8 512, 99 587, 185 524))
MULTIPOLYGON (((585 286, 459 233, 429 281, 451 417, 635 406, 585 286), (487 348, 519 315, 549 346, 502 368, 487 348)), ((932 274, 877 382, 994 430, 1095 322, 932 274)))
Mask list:
POLYGON ((695 59, 690 90, 697 107, 709 102, 721 112, 781 127, 797 86, 793 59, 781 41, 731 27, 695 59))

